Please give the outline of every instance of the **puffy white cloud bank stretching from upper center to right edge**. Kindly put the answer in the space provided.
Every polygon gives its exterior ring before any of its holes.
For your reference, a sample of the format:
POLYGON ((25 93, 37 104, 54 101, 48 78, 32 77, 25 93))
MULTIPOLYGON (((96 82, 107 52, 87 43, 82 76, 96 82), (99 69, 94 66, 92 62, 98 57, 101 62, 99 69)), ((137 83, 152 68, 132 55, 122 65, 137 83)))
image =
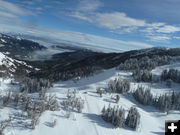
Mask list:
MULTIPOLYGON (((91 13, 84 14, 80 12, 74 12, 70 16, 88 21, 99 25, 100 27, 105 27, 110 29, 111 32, 123 34, 131 33, 135 30, 150 34, 171 34, 180 31, 180 27, 173 25, 167 25, 166 23, 147 23, 145 20, 135 19, 127 16, 122 12, 112 12, 112 13, 91 13)), ((162 36, 164 37, 164 36, 162 36)), ((163 38, 162 38, 163 39, 163 38)), ((168 38, 164 38, 168 39, 168 38)))

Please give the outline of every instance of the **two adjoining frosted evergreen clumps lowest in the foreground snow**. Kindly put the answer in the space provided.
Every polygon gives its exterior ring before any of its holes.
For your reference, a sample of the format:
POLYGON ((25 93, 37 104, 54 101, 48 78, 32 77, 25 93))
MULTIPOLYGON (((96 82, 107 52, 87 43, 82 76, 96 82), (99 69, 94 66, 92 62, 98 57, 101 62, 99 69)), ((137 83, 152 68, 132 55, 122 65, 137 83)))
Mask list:
POLYGON ((102 109, 102 118, 106 122, 112 123, 115 127, 121 128, 124 126, 137 130, 140 124, 140 113, 135 107, 131 107, 127 117, 125 117, 125 110, 119 106, 113 108, 109 105, 108 108, 104 106, 102 109))

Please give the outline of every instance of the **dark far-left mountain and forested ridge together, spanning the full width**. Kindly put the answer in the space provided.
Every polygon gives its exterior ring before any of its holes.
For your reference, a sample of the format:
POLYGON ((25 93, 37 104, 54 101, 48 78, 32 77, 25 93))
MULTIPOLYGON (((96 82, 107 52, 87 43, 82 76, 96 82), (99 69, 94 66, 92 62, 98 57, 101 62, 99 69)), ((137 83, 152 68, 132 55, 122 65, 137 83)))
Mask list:
MULTIPOLYGON (((13 63, 17 60, 21 60, 18 67, 28 69, 33 67, 29 76, 38 77, 52 77, 53 74, 74 74, 78 76, 78 72, 89 71, 89 74, 94 70, 104 70, 118 66, 124 61, 130 58, 142 58, 145 56, 152 57, 157 56, 180 56, 180 48, 165 48, 165 47, 154 47, 141 50, 131 50, 122 53, 103 53, 94 52, 92 50, 79 48, 76 46, 70 46, 61 44, 60 46, 52 44, 49 48, 43 46, 37 42, 22 39, 15 36, 8 36, 0 34, 0 52, 1 56, 8 60, 13 59, 13 63), (49 49, 62 49, 63 52, 54 52, 49 54, 49 49), (34 52, 45 52, 43 60, 31 60, 34 52), (5 56, 6 55, 6 56, 5 56), (47 56, 52 55, 50 59, 46 59, 47 56), (28 59, 29 58, 29 59, 28 59), (23 64, 25 63, 25 64, 23 64), (29 65, 29 66, 27 66, 29 65), (34 69, 40 70, 34 70, 34 69)), ((2 59, 1 59, 2 61, 2 59)), ((12 60, 11 60, 12 62, 12 60)), ((13 64, 12 64, 13 65, 13 64)), ((17 67, 17 66, 16 66, 17 67)), ((19 69, 21 70, 21 69, 19 69)), ((65 75, 64 75, 65 76, 65 75)), ((75 77, 75 76, 72 76, 75 77)))

